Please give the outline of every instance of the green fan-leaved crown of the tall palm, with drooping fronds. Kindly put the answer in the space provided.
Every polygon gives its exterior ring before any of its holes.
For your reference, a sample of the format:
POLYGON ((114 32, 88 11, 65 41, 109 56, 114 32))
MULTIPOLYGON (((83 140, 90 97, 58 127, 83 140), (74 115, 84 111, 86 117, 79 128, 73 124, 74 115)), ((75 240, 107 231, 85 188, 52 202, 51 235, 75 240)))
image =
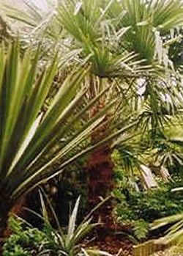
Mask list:
POLYGON ((173 69, 168 49, 180 40, 176 32, 182 24, 180 1, 65 0, 51 10, 48 19, 45 9, 34 4, 26 4, 25 12, 4 7, 9 17, 32 28, 26 40, 40 38, 49 53, 59 48, 59 61, 64 54, 69 66, 91 65, 89 97, 108 86, 118 90, 120 114, 126 122, 134 114, 141 129, 152 130, 154 136, 179 113, 181 77, 173 69))

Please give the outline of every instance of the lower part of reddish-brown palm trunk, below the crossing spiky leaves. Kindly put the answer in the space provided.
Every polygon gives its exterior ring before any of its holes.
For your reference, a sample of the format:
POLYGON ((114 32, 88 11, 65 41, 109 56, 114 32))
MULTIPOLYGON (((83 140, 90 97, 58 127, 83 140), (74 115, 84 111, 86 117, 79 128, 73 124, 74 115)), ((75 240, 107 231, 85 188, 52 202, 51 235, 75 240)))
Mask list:
MULTIPOLYGON (((94 151, 89 158, 87 171, 90 210, 101 202, 101 197, 108 197, 113 188, 113 162, 111 161, 108 147, 108 145, 105 145, 100 150, 94 151)), ((100 222, 106 222, 106 217, 111 216, 110 211, 111 206, 106 202, 105 205, 102 205, 95 212, 94 219, 97 221, 100 220, 100 222)))

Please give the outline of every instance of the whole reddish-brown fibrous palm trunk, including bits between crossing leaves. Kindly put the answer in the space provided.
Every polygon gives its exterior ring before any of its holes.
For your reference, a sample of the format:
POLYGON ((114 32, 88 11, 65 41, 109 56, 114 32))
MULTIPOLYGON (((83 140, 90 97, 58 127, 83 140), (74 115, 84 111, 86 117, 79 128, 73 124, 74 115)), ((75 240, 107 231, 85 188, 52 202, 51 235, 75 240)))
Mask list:
MULTIPOLYGON (((100 111, 104 106, 100 103, 96 109, 93 109, 92 115, 100 111)), ((99 142, 108 136, 108 121, 109 114, 106 114, 104 124, 91 134, 91 143, 99 142)), ((113 162, 111 160, 111 144, 107 143, 97 150, 91 152, 89 162, 86 166, 88 188, 89 188, 89 209, 94 208, 99 202, 100 197, 108 197, 111 189, 113 188, 112 175, 113 175, 113 162)), ((106 217, 111 215, 111 205, 106 202, 94 213, 94 219, 105 222, 106 217)))

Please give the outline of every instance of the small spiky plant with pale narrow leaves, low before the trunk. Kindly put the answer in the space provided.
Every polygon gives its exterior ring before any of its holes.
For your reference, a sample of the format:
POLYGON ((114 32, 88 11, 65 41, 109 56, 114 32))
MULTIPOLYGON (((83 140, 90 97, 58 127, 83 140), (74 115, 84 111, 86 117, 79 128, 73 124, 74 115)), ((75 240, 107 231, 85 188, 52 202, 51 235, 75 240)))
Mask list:
POLYGON ((81 239, 86 237, 86 235, 89 234, 89 232, 98 224, 91 224, 91 219, 84 219, 81 224, 76 224, 80 197, 78 197, 78 200, 75 202, 75 207, 69 217, 67 231, 64 231, 61 227, 59 219, 56 216, 56 212, 53 210, 51 202, 48 200, 48 208, 50 207, 53 219, 57 226, 56 230, 52 227, 42 194, 40 194, 40 198, 42 205, 42 218, 45 223, 45 234, 48 235, 50 247, 53 248, 58 255, 75 256, 82 253, 79 242, 81 242, 81 239))

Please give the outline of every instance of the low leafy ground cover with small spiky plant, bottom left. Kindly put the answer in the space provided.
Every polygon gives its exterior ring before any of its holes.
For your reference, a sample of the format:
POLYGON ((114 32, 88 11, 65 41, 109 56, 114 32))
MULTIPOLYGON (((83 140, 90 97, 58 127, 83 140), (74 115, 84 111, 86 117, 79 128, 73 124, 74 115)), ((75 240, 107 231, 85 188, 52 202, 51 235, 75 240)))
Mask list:
POLYGON ((56 211, 53 210, 48 197, 46 197, 46 200, 47 206, 42 194, 40 194, 42 216, 35 213, 43 220, 42 230, 30 227, 30 224, 22 219, 10 217, 9 228, 12 235, 4 244, 3 256, 89 256, 90 254, 111 256, 107 252, 97 249, 85 249, 81 246, 81 240, 98 224, 91 223, 90 214, 83 219, 83 222, 76 224, 80 197, 75 202, 75 207, 66 227, 61 226, 56 211), (50 222, 48 209, 55 219, 56 228, 50 222))

